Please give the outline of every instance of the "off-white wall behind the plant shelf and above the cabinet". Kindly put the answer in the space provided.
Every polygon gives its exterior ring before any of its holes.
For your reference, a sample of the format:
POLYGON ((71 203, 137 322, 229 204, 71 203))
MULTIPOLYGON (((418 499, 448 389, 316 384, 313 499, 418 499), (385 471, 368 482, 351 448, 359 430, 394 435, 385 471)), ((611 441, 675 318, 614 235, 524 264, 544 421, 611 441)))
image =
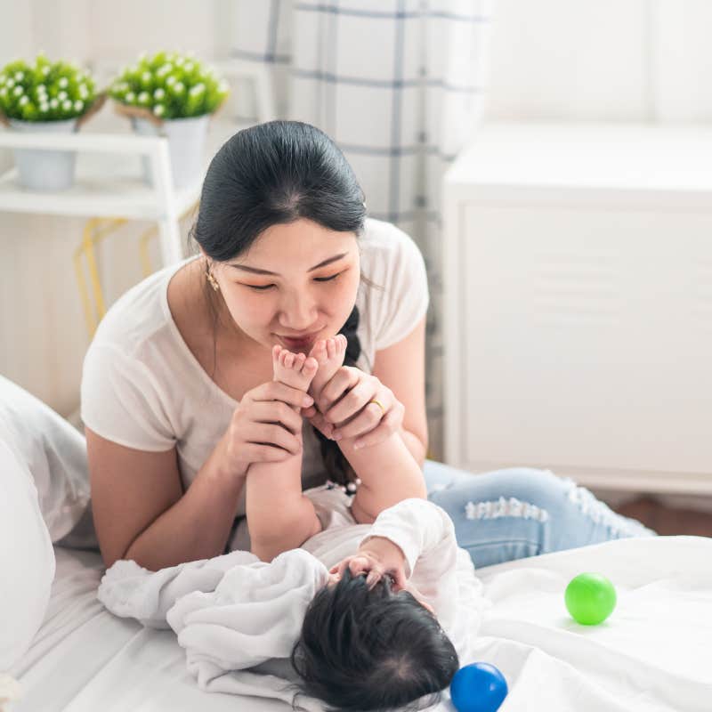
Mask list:
MULTIPOLYGON (((255 0, 257 2, 258 0, 255 0)), ((712 117, 708 0, 498 0, 487 118, 686 121, 712 117)), ((0 0, 0 65, 43 49, 123 64, 158 47, 227 53, 230 0, 0 0)), ((110 106, 91 130, 127 130, 110 106)), ((0 170, 12 165, 0 151, 0 170)), ((84 221, 0 214, 0 373, 69 414, 88 336, 72 255, 84 221)), ((141 279, 138 235, 102 253, 109 301, 141 279), (119 267, 120 265, 120 267, 119 267)))

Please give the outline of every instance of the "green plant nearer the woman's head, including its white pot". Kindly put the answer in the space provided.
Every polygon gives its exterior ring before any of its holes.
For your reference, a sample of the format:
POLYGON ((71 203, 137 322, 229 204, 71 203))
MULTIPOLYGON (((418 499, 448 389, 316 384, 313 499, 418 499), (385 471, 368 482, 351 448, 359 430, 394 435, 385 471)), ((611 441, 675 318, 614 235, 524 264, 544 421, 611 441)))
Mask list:
MULTIPOLYGON (((142 53, 109 87, 117 112, 131 119, 138 134, 166 136, 174 186, 202 174, 208 122, 228 96, 228 85, 193 53, 142 53)), ((143 173, 152 182, 143 158, 143 173)))

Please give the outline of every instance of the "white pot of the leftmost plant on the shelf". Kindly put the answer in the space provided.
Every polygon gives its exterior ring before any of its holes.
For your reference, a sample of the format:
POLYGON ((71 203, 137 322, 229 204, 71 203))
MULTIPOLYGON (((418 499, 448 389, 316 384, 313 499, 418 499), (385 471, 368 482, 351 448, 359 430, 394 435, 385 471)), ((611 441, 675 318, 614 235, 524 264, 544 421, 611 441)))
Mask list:
MULTIPOLYGON (((14 131, 73 134, 77 118, 65 121, 20 121, 10 119, 14 131)), ((20 185, 31 190, 67 190, 74 184, 76 150, 12 149, 20 185)))

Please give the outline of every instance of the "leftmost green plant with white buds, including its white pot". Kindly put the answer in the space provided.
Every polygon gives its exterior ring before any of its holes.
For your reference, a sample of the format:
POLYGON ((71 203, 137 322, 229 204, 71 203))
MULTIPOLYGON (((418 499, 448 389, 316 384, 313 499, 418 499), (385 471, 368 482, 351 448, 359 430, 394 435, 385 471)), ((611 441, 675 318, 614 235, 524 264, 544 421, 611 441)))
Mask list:
MULTIPOLYGON (((13 131, 74 133, 106 100, 93 77, 76 63, 11 61, 0 70, 0 123, 13 131)), ((77 151, 13 149, 20 185, 65 190, 74 183, 77 151)))

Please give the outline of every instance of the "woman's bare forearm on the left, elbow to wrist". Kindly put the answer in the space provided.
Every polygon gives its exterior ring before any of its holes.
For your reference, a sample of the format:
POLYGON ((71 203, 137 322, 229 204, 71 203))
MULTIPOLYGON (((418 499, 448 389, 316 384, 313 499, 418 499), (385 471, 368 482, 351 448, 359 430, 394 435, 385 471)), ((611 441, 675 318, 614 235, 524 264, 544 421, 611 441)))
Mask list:
POLYGON ((223 471, 222 447, 223 441, 182 498, 134 539, 125 559, 157 571, 223 554, 245 479, 223 471))

